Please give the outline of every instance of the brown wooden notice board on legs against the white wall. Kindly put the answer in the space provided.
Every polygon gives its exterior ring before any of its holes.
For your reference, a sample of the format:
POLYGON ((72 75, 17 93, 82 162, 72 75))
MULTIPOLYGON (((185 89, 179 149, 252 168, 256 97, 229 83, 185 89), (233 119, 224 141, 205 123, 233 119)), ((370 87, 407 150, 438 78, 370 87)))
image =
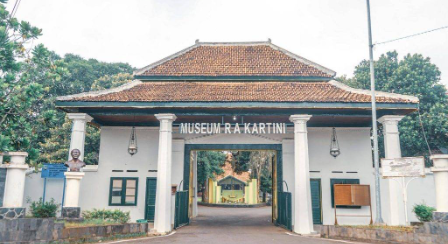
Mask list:
POLYGON ((372 202, 370 199, 370 185, 358 184, 335 184, 334 185, 334 218, 335 225, 338 224, 337 216, 344 217, 370 217, 373 224, 372 202), (337 206, 369 206, 369 215, 337 215, 337 206))

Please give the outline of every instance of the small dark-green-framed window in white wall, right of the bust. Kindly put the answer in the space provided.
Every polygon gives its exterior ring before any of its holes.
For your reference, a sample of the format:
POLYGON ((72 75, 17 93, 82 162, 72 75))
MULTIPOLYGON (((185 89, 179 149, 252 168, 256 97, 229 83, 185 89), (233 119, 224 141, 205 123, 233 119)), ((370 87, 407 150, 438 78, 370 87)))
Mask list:
POLYGON ((109 206, 136 206, 138 178, 110 178, 109 206))

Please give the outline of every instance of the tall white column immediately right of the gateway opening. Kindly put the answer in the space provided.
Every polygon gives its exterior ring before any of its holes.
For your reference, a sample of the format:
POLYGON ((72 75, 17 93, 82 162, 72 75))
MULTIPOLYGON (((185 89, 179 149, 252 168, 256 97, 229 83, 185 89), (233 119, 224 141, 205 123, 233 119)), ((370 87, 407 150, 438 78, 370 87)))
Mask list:
POLYGON ((310 118, 305 114, 289 118, 294 123, 294 232, 302 235, 314 232, 306 126, 310 118))

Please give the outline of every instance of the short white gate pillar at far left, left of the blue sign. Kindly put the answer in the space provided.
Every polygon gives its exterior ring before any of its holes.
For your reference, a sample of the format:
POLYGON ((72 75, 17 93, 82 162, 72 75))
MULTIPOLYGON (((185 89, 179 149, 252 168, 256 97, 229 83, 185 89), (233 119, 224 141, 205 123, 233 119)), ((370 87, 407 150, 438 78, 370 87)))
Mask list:
POLYGON ((3 208, 21 208, 23 206, 23 194, 25 192, 26 170, 25 163, 28 156, 26 152, 10 152, 11 162, 6 165, 6 183, 3 199, 3 208))

